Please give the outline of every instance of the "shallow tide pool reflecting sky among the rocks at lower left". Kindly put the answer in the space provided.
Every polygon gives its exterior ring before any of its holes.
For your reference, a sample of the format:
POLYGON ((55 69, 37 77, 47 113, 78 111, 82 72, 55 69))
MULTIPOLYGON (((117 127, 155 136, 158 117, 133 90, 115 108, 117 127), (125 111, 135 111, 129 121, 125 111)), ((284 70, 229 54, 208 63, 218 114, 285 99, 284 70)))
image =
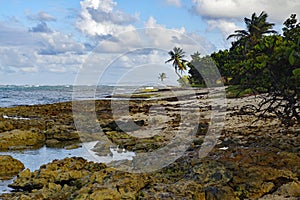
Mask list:
MULTIPOLYGON (((47 148, 42 147, 37 150, 23 150, 23 151, 9 151, 0 152, 0 155, 11 155, 13 158, 20 160, 25 169, 28 168, 30 171, 34 171, 40 168, 41 165, 52 162, 55 159, 64 159, 67 157, 83 157, 88 161, 109 163, 116 160, 132 160, 135 156, 134 152, 120 152, 118 149, 111 148, 111 155, 97 156, 93 147, 98 141, 83 143, 82 147, 77 149, 63 149, 63 148, 47 148)), ((12 183, 12 180, 0 180, 0 194, 8 193, 12 191, 8 187, 8 184, 12 183)))

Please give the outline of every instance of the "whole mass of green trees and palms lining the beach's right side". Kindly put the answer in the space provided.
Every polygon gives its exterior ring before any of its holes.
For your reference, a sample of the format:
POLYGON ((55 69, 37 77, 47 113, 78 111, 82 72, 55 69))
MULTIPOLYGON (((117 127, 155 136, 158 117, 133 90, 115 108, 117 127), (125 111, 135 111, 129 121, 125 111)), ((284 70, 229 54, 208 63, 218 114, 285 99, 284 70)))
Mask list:
MULTIPOLYGON (((205 57, 196 52, 190 62, 179 62, 183 63, 180 69, 185 70, 187 63, 192 85, 208 85, 209 81, 229 85, 230 97, 261 94, 263 100, 255 107, 260 117, 272 113, 287 126, 300 123, 300 23, 292 14, 283 23, 280 35, 272 30, 274 24, 267 18, 265 12, 244 18, 246 30, 229 35, 228 39, 236 39, 229 49, 205 57), (221 80, 214 77, 212 64, 219 69, 221 80)), ((175 49, 180 48, 175 47, 174 52, 175 49)), ((173 66, 176 71, 179 64, 173 66)))

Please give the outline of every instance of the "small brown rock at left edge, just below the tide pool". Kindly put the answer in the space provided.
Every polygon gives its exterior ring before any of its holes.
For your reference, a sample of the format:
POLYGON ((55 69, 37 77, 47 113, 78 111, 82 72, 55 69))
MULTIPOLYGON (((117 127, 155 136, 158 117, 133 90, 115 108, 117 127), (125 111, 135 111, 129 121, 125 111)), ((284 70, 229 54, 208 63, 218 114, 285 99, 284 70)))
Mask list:
POLYGON ((24 169, 23 163, 11 156, 0 155, 0 179, 11 179, 24 169))

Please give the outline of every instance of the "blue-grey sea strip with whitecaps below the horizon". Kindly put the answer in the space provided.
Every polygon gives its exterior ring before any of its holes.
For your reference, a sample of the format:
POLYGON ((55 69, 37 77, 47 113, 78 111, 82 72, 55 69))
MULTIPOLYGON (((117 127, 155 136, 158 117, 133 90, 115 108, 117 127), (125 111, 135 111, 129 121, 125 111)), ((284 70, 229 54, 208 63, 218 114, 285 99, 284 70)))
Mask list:
POLYGON ((102 99, 113 93, 130 93, 130 86, 15 86, 0 85, 0 107, 51 104, 84 99, 102 99))

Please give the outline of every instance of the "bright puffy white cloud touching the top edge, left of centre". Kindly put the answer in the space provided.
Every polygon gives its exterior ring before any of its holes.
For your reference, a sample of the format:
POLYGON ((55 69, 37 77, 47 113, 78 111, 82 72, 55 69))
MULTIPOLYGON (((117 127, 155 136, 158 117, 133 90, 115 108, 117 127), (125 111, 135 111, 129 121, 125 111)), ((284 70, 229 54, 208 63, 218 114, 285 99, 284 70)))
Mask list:
POLYGON ((88 36, 114 35, 134 30, 137 16, 115 10, 113 0, 84 0, 80 2, 81 13, 77 28, 88 36))

